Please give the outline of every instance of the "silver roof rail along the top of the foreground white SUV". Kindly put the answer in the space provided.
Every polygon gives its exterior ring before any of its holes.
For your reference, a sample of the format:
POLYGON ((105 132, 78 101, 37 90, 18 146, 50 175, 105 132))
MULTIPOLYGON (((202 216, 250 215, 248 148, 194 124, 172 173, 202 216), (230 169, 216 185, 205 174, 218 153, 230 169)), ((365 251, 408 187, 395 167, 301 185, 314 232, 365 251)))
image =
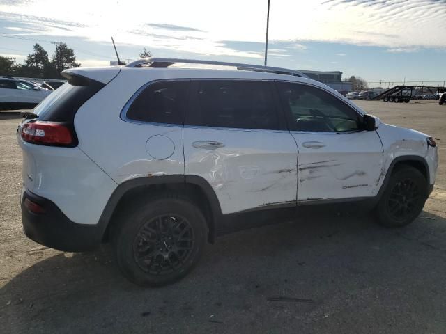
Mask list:
POLYGON ((201 64, 201 65, 219 65, 237 67, 238 70, 249 70, 255 72, 270 72, 276 74, 294 75, 296 77, 308 78, 307 75, 288 68, 272 67, 263 65, 251 65, 245 63, 228 63, 225 61, 200 61, 197 59, 181 59, 181 58, 141 58, 132 63, 128 63, 125 67, 169 67, 176 63, 201 64))

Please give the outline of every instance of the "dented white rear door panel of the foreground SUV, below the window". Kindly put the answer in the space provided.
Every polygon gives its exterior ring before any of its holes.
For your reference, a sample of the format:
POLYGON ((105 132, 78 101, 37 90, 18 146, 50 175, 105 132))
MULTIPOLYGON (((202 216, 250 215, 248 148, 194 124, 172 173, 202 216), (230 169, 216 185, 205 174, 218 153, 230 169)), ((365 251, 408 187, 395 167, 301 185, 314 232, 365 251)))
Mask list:
POLYGON ((289 132, 184 128, 186 175, 213 187, 223 214, 268 205, 296 205, 298 150, 289 132), (197 148, 197 141, 221 143, 197 148))

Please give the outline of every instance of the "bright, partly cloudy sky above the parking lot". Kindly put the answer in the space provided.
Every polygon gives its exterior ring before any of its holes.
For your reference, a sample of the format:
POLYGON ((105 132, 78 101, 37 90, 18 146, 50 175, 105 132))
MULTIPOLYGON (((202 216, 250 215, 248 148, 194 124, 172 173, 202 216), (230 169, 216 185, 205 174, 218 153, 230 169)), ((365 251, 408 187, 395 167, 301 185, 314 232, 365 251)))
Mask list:
MULTIPOLYGON (((0 0, 0 55, 66 42, 82 66, 153 56, 263 64, 268 0, 0 0)), ((270 0, 268 65, 446 80, 446 0, 270 0)), ((432 83, 433 84, 433 83, 432 83)))

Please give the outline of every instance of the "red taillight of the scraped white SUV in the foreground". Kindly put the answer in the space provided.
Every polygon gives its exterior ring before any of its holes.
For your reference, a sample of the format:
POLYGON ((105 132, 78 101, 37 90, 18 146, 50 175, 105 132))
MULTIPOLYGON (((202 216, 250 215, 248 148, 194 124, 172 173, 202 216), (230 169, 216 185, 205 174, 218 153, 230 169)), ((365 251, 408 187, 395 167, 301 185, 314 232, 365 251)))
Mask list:
POLYGON ((42 145, 71 145, 72 131, 57 122, 37 120, 22 125, 20 132, 24 141, 42 145))

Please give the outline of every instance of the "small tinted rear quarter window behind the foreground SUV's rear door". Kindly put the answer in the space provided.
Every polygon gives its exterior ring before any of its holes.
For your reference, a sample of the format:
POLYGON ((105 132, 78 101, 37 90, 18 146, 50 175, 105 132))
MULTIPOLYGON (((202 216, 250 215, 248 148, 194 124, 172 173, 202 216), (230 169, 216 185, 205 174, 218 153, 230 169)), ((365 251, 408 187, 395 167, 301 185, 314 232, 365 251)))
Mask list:
POLYGON ((126 113, 129 120, 183 125, 190 81, 159 81, 143 88, 126 113))

